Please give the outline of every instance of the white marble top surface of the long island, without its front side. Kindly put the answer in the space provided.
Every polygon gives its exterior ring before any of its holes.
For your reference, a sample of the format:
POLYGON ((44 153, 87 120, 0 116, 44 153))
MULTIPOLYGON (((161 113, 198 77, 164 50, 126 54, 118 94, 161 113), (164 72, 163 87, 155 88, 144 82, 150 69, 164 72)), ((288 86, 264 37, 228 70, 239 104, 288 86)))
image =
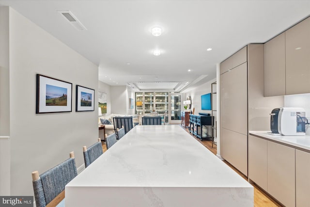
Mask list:
POLYGON ((252 188, 179 125, 134 127, 73 186, 252 188))

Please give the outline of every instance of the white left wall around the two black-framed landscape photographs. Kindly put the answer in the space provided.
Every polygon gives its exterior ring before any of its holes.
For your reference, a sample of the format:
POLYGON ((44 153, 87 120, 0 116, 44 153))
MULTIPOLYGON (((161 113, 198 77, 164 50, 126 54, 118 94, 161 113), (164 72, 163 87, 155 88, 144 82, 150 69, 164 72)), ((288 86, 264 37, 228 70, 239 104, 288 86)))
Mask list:
MULTIPOLYGON (((75 111, 76 85, 98 90, 98 67, 15 10, 9 9, 11 195, 32 195, 39 174, 69 158, 84 164, 82 146, 98 138, 95 111, 75 111), (36 74, 73 84, 72 112, 35 113, 36 74), (85 79, 85 77, 87 77, 85 79)), ((78 31, 77 31, 78 32, 78 31)), ((3 159, 1 157, 1 159, 3 159)), ((3 160, 0 160, 3 161, 3 160)))

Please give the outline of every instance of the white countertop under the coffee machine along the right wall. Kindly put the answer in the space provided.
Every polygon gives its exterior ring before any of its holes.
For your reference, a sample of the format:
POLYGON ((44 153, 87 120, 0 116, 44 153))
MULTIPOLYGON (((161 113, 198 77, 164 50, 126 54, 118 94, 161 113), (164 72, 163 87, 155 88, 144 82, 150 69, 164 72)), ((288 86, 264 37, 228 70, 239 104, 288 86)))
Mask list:
POLYGON ((310 152, 310 136, 281 136, 271 135, 267 131, 249 131, 250 135, 259 136, 267 140, 272 140, 278 143, 284 143, 297 149, 310 152))

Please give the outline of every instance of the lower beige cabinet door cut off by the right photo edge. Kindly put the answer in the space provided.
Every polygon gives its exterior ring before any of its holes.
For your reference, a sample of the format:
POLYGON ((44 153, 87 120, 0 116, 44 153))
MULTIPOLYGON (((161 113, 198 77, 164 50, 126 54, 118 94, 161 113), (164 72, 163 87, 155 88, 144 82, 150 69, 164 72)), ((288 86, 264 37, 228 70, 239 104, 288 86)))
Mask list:
POLYGON ((310 207, 310 153, 296 149, 296 207, 310 207))

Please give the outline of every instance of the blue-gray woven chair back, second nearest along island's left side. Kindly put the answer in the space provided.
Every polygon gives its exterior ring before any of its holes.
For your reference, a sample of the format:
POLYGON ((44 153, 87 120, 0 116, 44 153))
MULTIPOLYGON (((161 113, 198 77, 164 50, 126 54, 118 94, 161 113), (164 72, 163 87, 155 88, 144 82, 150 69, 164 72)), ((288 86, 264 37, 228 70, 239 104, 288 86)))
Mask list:
POLYGON ((92 146, 86 148, 83 146, 83 155, 85 168, 88 167, 95 159, 99 158, 103 154, 101 139, 98 138, 98 142, 94 143, 92 146))

